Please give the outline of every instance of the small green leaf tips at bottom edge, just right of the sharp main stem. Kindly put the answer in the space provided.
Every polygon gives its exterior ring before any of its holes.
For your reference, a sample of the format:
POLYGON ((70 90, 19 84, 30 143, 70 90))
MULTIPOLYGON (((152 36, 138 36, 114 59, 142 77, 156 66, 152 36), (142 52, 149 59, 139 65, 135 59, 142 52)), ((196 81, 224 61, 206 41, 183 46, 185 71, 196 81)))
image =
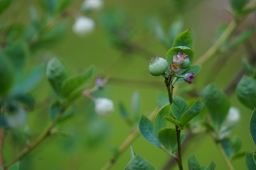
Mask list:
POLYGON ((188 157, 188 170, 214 170, 215 166, 216 164, 214 162, 210 162, 206 168, 203 168, 194 154, 188 157))

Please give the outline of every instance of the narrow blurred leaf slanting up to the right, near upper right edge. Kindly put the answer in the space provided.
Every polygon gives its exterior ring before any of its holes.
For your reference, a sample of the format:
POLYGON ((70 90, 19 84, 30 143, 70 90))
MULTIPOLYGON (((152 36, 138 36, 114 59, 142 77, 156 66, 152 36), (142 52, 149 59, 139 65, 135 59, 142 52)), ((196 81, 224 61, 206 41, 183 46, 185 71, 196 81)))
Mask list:
POLYGON ((254 32, 254 29, 252 27, 247 28, 246 30, 243 30, 242 33, 237 35, 231 42, 230 42, 230 48, 236 47, 240 45, 245 40, 249 39, 254 32))

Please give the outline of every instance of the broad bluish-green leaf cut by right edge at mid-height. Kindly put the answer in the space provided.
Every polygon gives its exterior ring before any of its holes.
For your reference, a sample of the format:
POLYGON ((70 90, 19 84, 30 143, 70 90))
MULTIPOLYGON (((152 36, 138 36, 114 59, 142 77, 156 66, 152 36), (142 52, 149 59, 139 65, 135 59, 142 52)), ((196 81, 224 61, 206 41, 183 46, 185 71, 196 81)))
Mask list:
POLYGON ((248 108, 256 108, 256 80, 243 76, 239 81, 236 94, 242 104, 248 108))

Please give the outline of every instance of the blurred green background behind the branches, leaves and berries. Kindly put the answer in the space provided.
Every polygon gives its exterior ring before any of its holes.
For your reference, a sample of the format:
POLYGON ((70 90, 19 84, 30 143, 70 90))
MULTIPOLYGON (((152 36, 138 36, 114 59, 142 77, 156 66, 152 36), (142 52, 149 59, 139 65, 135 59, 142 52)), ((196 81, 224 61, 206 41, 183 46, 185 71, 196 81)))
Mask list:
MULTIPOLYGON (((165 57, 166 55, 166 48, 156 39, 151 31, 149 21, 152 18, 159 21, 167 31, 170 24, 178 16, 181 16, 183 18, 182 30, 190 28, 193 33, 196 60, 213 44, 216 29, 220 23, 229 23, 232 19, 232 16, 225 11, 225 9, 230 9, 227 0, 190 1, 188 3, 186 7, 182 7, 175 6, 171 0, 104 1, 104 6, 100 11, 89 15, 95 21, 95 30, 85 37, 73 33, 74 18, 65 18, 66 32, 63 33, 63 38, 54 46, 46 46, 45 49, 33 53, 32 55, 35 56, 33 62, 45 61, 51 56, 55 56, 65 62, 74 72, 80 72, 91 64, 95 65, 94 80, 102 76, 116 78, 116 81, 110 81, 105 89, 95 94, 95 96, 111 98, 115 104, 115 111, 110 117, 95 118, 92 101, 81 97, 76 101, 79 106, 77 113, 61 127, 63 132, 70 133, 70 137, 58 134, 49 137, 23 159, 21 169, 101 169, 112 157, 113 150, 122 144, 130 132, 129 126, 119 115, 118 103, 123 102, 129 108, 132 94, 134 91, 138 91, 141 100, 140 113, 149 115, 157 106, 156 101, 159 94, 165 93, 166 90, 164 79, 152 77, 148 72, 147 60, 151 56, 165 57), (107 34, 104 24, 105 13, 110 11, 118 11, 117 15, 124 15, 128 18, 127 25, 132 28, 132 42, 145 49, 146 52, 130 54, 118 50, 111 44, 110 35, 107 34)), ((70 8, 78 10, 81 4, 82 1, 73 1, 70 8)), ((28 23, 28 8, 32 5, 39 8, 40 3, 33 0, 16 2, 16 5, 11 6, 1 15, 1 23, 6 22, 14 11, 19 13, 17 21, 28 23)), ((255 26, 255 16, 253 15, 242 22, 238 30, 244 30, 250 25, 255 26)), ((255 40, 255 33, 250 40, 255 40)), ((213 82, 220 89, 224 89, 234 77, 235 72, 242 67, 241 58, 247 53, 245 47, 240 45, 235 52, 227 55, 232 56, 228 59, 225 67, 221 68, 216 79, 211 79, 219 69, 215 67, 217 61, 215 57, 203 64, 203 69, 191 86, 195 86, 198 91, 201 91, 207 83, 213 82)), ((93 84, 92 81, 88 87, 93 84)), ((183 85, 188 86, 188 84, 181 83, 178 88, 182 88, 183 85)), ((50 91, 50 85, 44 77, 32 95, 37 99, 36 103, 40 103, 52 94, 50 91)), ((188 98, 188 95, 182 94, 182 96, 188 98)), ((255 149, 255 145, 248 127, 252 111, 242 106, 235 93, 231 94, 230 101, 231 106, 239 108, 241 113, 240 125, 235 128, 232 135, 237 135, 242 140, 242 150, 252 151, 255 149)), ((32 139, 48 125, 49 121, 47 103, 28 114, 32 139)), ((5 152, 10 152, 6 157, 8 160, 18 149, 11 146, 10 143, 6 144, 5 152)), ((141 154, 156 169, 161 169, 169 160, 166 153, 146 142, 142 137, 133 142, 132 147, 134 152, 141 154)), ((228 169, 209 135, 198 135, 189 142, 188 148, 183 154, 185 169, 187 169, 186 160, 191 154, 196 154, 202 165, 209 164, 213 160, 217 164, 216 169, 228 169)), ((129 149, 127 149, 112 169, 124 169, 129 159, 129 149)), ((235 160, 233 164, 235 169, 245 169, 245 159, 243 158, 235 160)), ((178 168, 176 167, 176 169, 178 168)))

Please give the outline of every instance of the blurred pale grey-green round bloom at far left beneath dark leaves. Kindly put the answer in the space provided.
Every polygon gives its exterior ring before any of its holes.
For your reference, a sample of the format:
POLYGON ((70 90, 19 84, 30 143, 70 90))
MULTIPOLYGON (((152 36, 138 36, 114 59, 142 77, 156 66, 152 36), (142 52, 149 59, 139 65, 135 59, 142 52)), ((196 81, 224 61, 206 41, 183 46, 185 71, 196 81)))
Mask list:
POLYGON ((26 111, 21 107, 16 108, 16 111, 12 113, 6 114, 6 122, 13 129, 23 128, 26 125, 26 118, 26 111))

